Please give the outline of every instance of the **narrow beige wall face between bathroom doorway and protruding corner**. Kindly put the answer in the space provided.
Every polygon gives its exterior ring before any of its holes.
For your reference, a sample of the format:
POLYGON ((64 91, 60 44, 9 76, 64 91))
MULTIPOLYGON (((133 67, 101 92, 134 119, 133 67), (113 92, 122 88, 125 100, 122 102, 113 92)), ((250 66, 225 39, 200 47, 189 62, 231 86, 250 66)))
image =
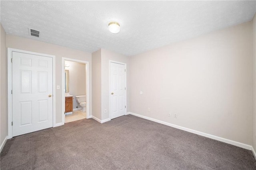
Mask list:
POLYGON ((92 116, 101 120, 101 49, 92 53, 92 116))

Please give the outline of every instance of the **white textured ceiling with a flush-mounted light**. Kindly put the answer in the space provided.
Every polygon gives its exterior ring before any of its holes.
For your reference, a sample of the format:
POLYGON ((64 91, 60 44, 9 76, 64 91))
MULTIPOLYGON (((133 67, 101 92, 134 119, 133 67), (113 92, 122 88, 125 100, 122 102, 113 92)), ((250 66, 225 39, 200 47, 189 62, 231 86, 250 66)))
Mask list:
POLYGON ((134 55, 252 20, 255 1, 2 1, 7 34, 134 55), (120 23, 112 34, 108 23, 120 23), (28 28, 41 31, 40 38, 28 28))

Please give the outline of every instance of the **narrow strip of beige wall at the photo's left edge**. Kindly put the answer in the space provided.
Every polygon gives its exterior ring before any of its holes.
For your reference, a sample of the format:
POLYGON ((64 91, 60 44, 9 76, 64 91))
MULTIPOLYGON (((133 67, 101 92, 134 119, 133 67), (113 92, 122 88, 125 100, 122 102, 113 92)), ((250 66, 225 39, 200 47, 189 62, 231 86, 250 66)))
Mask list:
POLYGON ((0 145, 7 136, 7 75, 6 75, 6 33, 0 24, 0 145))

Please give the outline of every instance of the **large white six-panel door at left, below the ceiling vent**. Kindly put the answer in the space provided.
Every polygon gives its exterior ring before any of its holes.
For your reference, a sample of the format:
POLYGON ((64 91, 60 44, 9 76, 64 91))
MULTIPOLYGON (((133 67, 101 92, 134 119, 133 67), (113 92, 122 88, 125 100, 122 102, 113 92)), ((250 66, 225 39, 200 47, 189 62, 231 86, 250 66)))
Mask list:
POLYGON ((12 136, 52 127, 52 57, 12 52, 12 136))

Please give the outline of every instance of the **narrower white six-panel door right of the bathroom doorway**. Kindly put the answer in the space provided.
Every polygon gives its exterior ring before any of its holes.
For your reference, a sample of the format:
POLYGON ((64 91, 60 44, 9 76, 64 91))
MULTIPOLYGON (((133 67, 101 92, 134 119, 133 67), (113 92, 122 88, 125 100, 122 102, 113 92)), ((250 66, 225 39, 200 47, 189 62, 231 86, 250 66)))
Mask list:
POLYGON ((126 71, 125 65, 110 63, 110 114, 111 119, 126 113, 126 71))

